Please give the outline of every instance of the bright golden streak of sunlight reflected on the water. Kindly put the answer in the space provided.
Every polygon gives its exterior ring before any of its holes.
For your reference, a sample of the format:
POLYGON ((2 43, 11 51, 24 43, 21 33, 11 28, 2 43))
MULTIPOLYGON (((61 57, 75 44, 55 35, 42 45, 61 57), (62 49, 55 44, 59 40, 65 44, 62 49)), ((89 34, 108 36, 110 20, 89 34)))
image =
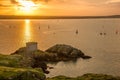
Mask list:
POLYGON ((30 26, 30 20, 25 20, 25 42, 31 41, 31 26, 30 26))

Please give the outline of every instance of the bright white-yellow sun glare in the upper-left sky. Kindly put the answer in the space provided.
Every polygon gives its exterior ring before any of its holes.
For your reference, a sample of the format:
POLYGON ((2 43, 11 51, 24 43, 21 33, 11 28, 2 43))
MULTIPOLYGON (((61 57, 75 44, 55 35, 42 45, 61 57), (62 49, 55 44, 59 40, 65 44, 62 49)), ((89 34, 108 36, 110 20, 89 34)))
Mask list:
POLYGON ((18 2, 19 2, 18 9, 23 12, 30 13, 37 8, 37 5, 33 1, 19 0, 18 2))

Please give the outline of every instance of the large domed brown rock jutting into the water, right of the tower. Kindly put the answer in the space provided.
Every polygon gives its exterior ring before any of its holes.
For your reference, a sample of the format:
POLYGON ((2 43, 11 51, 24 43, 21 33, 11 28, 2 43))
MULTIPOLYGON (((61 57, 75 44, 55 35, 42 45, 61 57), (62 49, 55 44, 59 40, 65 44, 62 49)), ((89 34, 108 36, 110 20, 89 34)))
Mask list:
POLYGON ((83 59, 91 58, 90 56, 85 56, 85 54, 70 45, 57 44, 46 50, 48 53, 56 54, 56 57, 61 58, 60 60, 71 60, 77 59, 79 57, 83 59))

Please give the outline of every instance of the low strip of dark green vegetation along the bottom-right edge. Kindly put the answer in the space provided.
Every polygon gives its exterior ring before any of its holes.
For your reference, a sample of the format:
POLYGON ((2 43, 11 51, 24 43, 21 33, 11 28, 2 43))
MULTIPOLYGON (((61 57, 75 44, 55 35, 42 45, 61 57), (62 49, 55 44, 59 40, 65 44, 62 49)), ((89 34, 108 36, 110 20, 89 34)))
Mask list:
POLYGON ((120 80, 120 77, 114 77, 105 74, 84 74, 76 78, 66 76, 56 76, 53 78, 47 78, 47 80, 120 80))

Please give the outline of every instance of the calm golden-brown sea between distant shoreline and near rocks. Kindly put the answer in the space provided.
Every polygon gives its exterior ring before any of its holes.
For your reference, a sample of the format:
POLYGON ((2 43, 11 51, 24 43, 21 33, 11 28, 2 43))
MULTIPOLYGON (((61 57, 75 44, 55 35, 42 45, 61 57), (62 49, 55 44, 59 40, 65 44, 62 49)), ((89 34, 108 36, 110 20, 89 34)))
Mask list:
POLYGON ((29 41, 38 42, 41 50, 68 44, 93 57, 48 64, 54 67, 48 77, 85 73, 120 76, 120 19, 0 20, 0 53, 10 54, 29 41))

